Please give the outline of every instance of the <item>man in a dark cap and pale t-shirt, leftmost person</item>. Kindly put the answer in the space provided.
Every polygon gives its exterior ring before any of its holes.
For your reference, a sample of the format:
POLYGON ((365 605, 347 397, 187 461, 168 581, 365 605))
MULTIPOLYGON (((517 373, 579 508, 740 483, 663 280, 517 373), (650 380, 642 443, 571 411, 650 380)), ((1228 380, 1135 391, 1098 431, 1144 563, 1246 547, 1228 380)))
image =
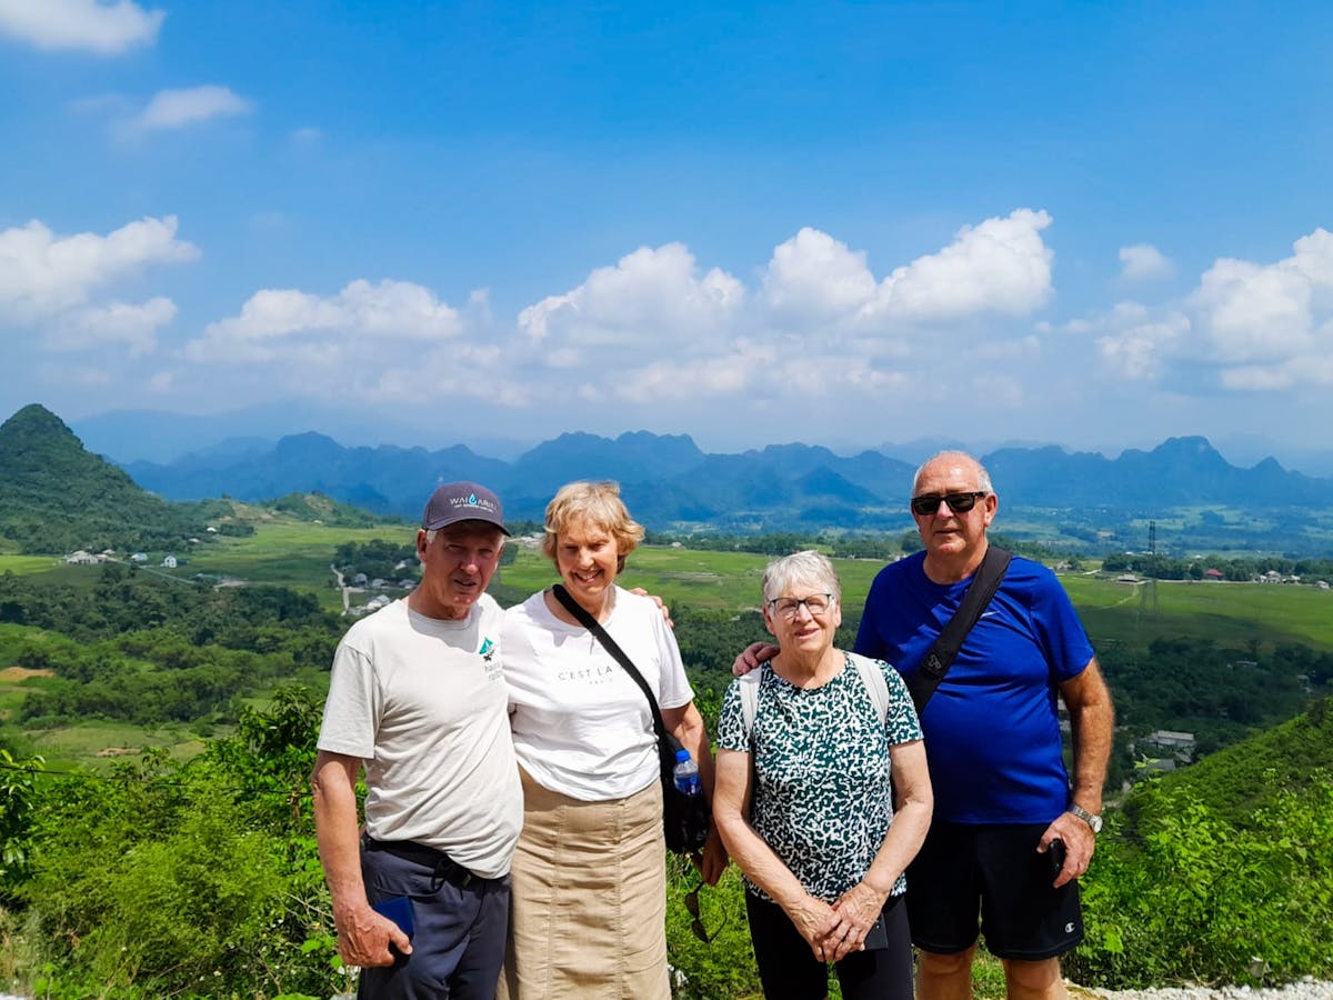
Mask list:
POLYGON ((501 611, 485 593, 505 535, 489 489, 436 489, 416 537, 421 583, 333 656, 311 781, 339 951, 363 967, 363 999, 495 995, 523 825, 501 611))

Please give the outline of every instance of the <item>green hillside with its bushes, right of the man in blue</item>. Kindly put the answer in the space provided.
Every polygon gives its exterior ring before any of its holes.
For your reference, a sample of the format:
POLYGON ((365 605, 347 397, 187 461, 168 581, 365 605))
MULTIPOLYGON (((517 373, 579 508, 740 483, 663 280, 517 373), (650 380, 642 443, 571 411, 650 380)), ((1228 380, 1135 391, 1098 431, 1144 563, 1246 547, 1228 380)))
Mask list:
POLYGON ((1114 988, 1333 972, 1333 699, 1112 811, 1066 975, 1114 988))

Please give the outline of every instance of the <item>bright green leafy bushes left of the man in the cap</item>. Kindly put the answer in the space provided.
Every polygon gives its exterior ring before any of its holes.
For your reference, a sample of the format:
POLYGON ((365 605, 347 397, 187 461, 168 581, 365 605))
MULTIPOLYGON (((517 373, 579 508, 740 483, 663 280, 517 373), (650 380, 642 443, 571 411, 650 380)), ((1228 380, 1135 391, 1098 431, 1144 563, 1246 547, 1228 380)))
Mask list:
POLYGON ((145 753, 109 776, 45 789, 31 876, 16 892, 44 993, 328 996, 345 987, 303 808, 317 715, 308 692, 285 689, 193 761, 145 753))

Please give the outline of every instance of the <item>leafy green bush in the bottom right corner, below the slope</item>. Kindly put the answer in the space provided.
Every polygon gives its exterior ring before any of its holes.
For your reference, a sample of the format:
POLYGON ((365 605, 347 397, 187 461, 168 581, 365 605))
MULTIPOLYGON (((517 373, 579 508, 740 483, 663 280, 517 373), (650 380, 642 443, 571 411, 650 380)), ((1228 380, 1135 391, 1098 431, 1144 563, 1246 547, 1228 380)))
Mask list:
POLYGON ((1136 792, 1134 839, 1102 837, 1084 879, 1081 983, 1280 983, 1333 972, 1333 787, 1285 791, 1241 827, 1188 788, 1136 792))

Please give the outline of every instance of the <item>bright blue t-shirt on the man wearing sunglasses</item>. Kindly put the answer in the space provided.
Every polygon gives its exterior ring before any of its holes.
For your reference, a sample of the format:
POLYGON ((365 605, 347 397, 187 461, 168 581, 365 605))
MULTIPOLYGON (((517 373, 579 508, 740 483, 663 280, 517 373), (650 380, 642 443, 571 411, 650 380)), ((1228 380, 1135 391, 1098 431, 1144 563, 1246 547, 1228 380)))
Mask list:
MULTIPOLYGON (((972 579, 936 584, 925 553, 870 585, 856 652, 916 672, 972 579)), ((921 715, 934 816, 949 823, 1049 823, 1069 803, 1057 685, 1093 657, 1054 573, 1014 556, 921 715)))

